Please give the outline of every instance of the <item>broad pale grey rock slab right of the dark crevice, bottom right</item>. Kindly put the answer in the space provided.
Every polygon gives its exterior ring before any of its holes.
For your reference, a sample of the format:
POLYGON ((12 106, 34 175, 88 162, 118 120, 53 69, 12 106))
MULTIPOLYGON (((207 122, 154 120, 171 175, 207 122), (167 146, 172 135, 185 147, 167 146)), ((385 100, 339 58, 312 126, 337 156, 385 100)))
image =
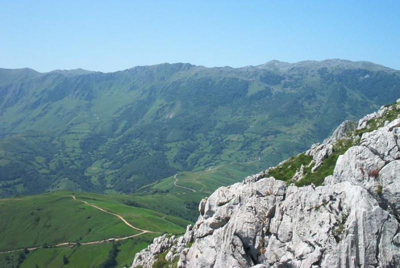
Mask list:
POLYGON ((400 248, 377 237, 393 237, 397 227, 360 186, 289 187, 271 219, 262 261, 273 267, 386 267, 398 263, 400 248))

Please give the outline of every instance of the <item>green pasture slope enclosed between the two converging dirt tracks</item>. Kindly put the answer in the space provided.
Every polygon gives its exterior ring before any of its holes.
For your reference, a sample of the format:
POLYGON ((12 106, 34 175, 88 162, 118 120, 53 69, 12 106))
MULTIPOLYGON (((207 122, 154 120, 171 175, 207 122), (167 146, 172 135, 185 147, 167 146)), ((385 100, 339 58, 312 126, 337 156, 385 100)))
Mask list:
POLYGON ((87 242, 138 233, 64 192, 0 200, 0 250, 87 242))

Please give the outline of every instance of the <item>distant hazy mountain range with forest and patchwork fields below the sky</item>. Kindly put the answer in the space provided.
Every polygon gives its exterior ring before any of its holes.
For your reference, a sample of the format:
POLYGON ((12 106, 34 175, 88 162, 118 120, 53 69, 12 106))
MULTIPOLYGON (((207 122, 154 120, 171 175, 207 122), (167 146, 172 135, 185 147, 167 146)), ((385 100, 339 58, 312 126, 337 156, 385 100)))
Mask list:
POLYGON ((0 197, 146 192, 181 171, 260 156, 252 168, 264 169, 344 119, 393 102, 399 75, 338 59, 113 73, 0 69, 0 197))

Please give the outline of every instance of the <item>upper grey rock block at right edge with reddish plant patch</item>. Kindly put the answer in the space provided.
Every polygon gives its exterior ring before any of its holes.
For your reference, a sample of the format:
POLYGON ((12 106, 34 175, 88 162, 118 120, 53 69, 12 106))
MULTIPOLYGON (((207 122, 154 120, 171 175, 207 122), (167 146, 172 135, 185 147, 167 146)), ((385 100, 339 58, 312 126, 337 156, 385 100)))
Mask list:
POLYGON ((337 159, 333 175, 325 184, 349 181, 360 185, 385 209, 397 215, 400 194, 400 119, 362 134, 360 145, 349 148, 337 159))

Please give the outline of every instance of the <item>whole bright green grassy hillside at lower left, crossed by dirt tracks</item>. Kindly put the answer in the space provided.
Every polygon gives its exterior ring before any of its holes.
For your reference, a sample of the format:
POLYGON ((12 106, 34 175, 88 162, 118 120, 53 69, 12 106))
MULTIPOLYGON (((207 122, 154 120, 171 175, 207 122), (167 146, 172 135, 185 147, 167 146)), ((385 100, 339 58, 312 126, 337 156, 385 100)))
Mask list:
POLYGON ((110 252, 122 266, 154 237, 183 233, 189 223, 134 204, 129 195, 66 191, 0 199, 0 266, 94 267, 110 261, 110 252), (22 250, 4 253, 15 249, 22 250))

